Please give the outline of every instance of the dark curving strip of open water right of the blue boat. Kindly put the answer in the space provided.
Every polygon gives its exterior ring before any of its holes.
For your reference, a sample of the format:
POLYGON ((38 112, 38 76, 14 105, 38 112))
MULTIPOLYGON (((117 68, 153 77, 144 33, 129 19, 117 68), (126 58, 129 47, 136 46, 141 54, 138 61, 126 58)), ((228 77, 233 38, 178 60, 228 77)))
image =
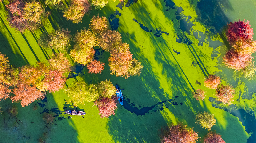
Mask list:
MULTIPOLYGON (((178 96, 175 96, 174 98, 177 99, 178 96)), ((138 109, 137 107, 135 107, 135 104, 134 103, 130 103, 130 100, 129 98, 125 99, 124 97, 124 102, 123 102, 123 107, 124 109, 130 111, 131 113, 135 113, 137 116, 138 115, 145 115, 146 113, 149 113, 150 110, 156 112, 156 111, 161 111, 164 109, 164 106, 166 108, 168 108, 168 105, 166 104, 166 102, 170 102, 171 104, 173 105, 182 105, 183 103, 177 103, 175 101, 175 99, 172 98, 172 99, 169 99, 169 100, 165 100, 165 101, 162 101, 162 102, 158 102, 157 104, 151 106, 151 107, 143 107, 141 109, 138 109)), ((140 107, 140 105, 139 105, 140 107)))

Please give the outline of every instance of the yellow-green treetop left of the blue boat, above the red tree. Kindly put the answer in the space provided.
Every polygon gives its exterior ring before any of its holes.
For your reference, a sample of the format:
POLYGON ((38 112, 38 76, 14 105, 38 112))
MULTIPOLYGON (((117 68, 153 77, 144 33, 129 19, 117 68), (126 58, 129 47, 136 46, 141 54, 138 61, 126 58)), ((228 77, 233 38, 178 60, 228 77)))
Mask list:
POLYGON ((116 94, 116 88, 110 80, 101 81, 98 83, 97 88, 100 93, 100 97, 112 98, 112 96, 116 94))

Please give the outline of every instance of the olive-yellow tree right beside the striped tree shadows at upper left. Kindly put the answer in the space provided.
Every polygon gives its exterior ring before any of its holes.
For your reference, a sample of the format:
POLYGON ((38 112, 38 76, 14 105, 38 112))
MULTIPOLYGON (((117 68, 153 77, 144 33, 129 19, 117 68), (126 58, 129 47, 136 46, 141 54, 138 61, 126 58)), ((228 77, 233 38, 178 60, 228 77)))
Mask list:
POLYGON ((42 34, 38 39, 38 44, 43 48, 52 48, 55 50, 66 51, 70 46, 70 31, 58 29, 49 34, 42 34))

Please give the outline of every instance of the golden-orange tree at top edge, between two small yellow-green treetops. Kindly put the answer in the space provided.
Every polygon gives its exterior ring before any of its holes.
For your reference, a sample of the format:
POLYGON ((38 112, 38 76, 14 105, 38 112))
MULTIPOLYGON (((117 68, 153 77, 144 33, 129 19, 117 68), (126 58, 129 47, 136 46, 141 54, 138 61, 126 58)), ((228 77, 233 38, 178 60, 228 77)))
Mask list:
POLYGON ((71 5, 64 11, 63 16, 73 23, 79 23, 89 10, 90 4, 88 0, 72 0, 71 5))

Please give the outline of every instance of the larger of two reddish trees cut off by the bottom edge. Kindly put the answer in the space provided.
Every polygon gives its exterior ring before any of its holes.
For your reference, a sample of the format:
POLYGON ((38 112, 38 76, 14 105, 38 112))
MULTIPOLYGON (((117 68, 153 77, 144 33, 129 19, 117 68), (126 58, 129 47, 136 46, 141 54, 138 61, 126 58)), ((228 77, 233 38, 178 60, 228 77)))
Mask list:
POLYGON ((187 128, 187 125, 169 125, 162 128, 163 138, 161 143, 195 143, 200 137, 193 128, 187 128))

